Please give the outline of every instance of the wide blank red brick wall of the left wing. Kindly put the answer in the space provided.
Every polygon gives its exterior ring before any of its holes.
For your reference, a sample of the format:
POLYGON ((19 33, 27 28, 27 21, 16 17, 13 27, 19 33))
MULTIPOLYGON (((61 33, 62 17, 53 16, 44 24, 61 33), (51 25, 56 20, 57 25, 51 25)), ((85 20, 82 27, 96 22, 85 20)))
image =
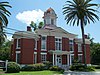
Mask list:
POLYGON ((21 39, 21 64, 33 64, 34 40, 21 39))

